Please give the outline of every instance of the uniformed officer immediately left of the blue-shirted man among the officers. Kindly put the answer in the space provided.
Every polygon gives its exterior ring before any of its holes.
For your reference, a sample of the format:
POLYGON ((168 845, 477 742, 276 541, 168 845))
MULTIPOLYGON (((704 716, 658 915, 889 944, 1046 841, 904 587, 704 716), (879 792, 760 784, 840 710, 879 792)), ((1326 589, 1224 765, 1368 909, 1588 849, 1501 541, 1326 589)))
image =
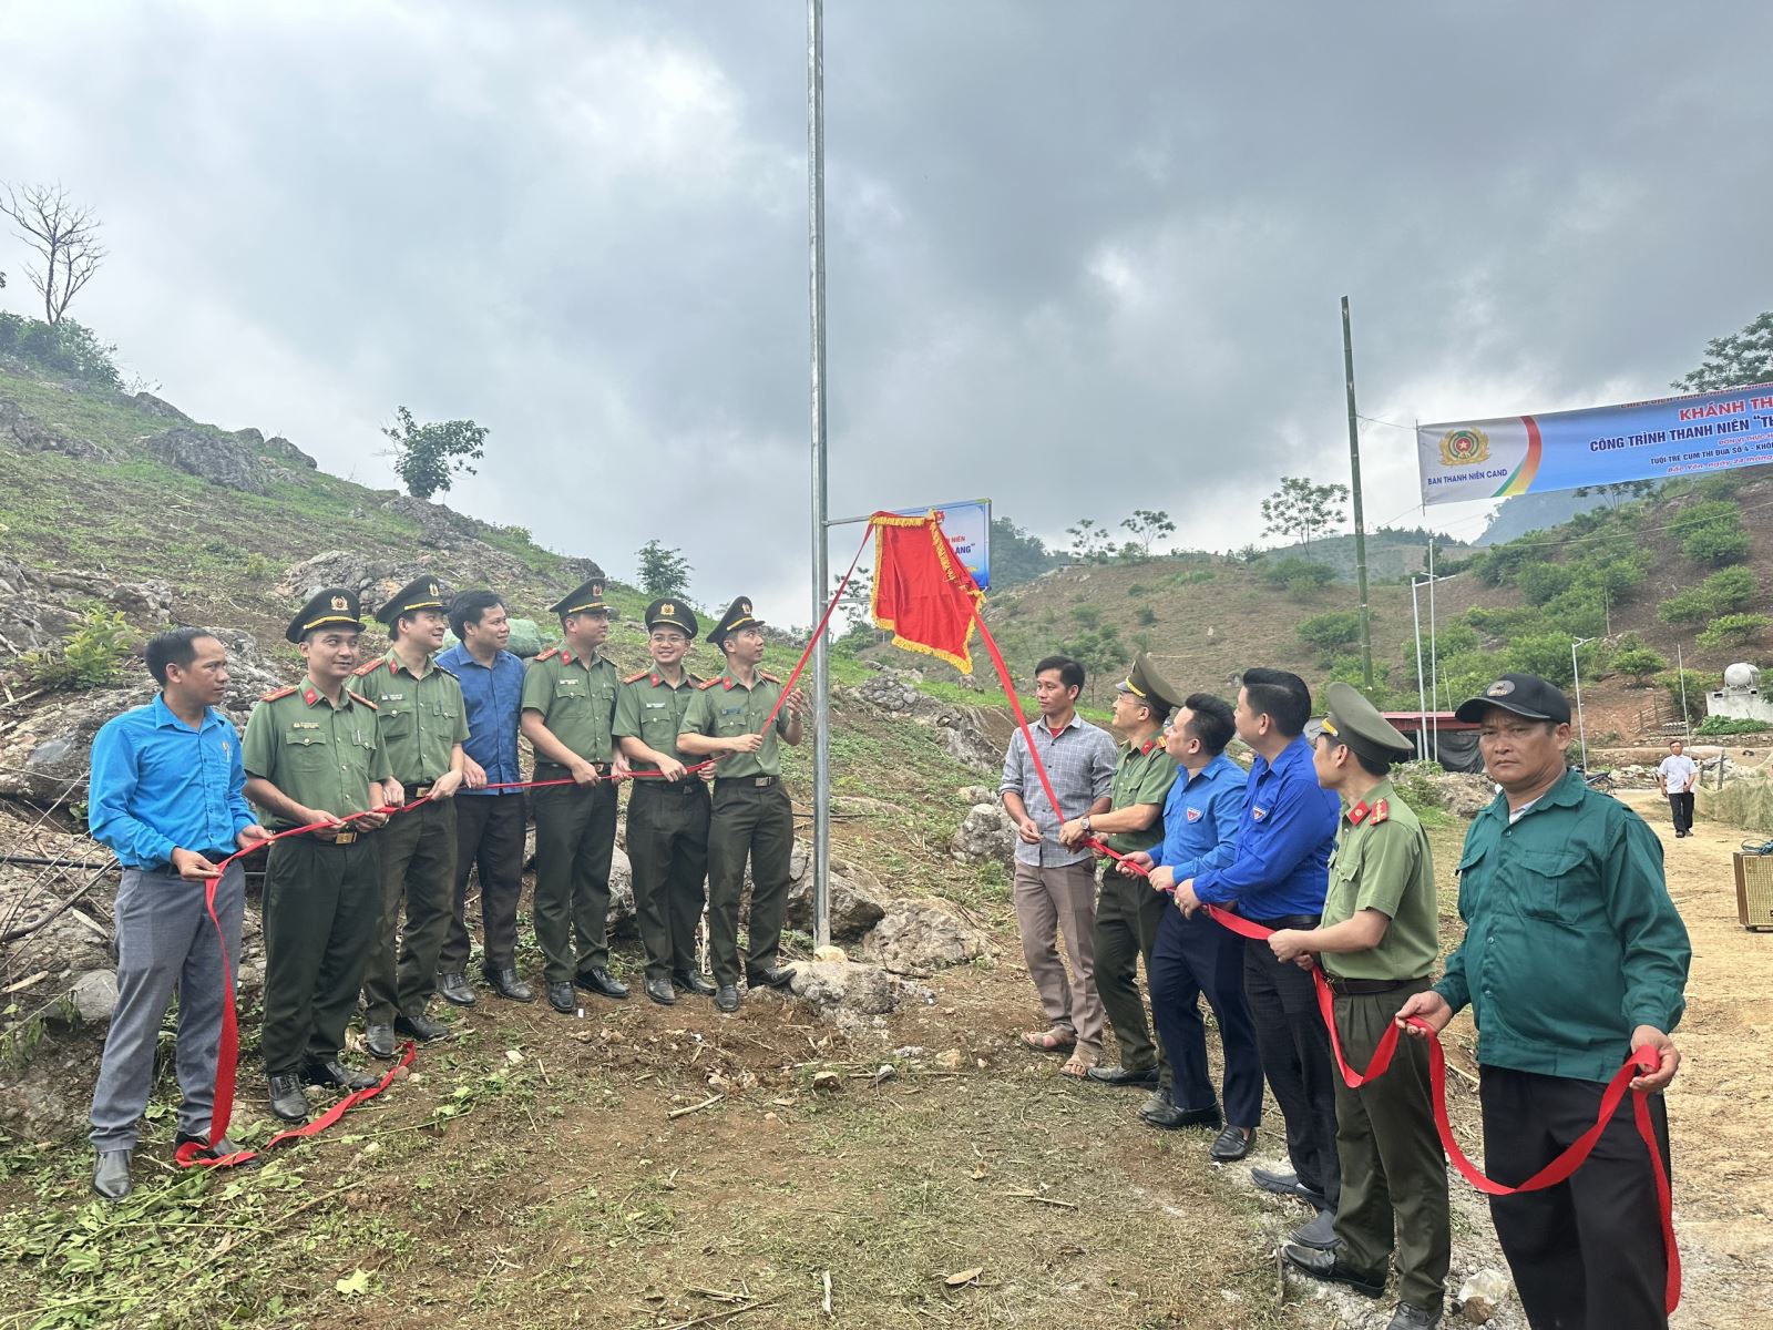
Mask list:
POLYGON ((363 970, 363 1046, 376 1057, 394 1057, 395 1032, 420 1041, 449 1034, 447 1025, 426 1014, 426 1004, 436 988, 438 952, 452 917, 452 794, 463 780, 468 716, 456 676, 433 661, 449 628, 438 580, 413 578, 376 617, 388 626, 394 645, 358 667, 356 688, 376 704, 376 736, 401 787, 395 798, 429 796, 395 818, 378 842, 381 926, 363 970))

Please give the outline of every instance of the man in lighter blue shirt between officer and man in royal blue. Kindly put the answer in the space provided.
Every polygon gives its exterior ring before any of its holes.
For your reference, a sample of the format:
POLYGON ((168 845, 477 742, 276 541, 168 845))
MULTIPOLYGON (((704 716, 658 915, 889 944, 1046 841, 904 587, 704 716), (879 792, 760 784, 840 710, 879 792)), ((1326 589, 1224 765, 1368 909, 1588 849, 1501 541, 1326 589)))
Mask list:
MULTIPOLYGON (((1165 748, 1179 771, 1163 809, 1163 844, 1129 857, 1151 869, 1154 890, 1174 890, 1236 855, 1245 773, 1225 755, 1234 732, 1230 704, 1211 693, 1190 695, 1170 716, 1165 748)), ((1163 1130, 1223 1128, 1213 1158, 1241 1160, 1262 1121, 1262 1060, 1243 997, 1243 938, 1206 913, 1165 910, 1151 949, 1151 1009, 1175 1078, 1168 1101, 1145 1105, 1140 1117, 1163 1130), (1225 1048, 1223 1114, 1207 1068, 1202 995, 1225 1048)))

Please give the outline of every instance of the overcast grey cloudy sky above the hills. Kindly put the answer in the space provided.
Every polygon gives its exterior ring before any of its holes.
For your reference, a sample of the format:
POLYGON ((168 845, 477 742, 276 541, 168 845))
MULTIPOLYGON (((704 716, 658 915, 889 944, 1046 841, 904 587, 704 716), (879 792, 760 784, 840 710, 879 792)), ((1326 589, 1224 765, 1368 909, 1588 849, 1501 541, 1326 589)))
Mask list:
MULTIPOLYGON (((1773 307, 1769 50, 1764 0, 832 0, 832 512, 1259 541, 1347 479, 1342 294, 1379 420, 1658 395, 1773 307)), ((129 371, 374 486, 395 404, 473 417, 452 507, 784 622, 805 144, 800 0, 0 5, 0 179, 99 209, 129 371)), ((1420 520, 1406 431, 1363 470, 1420 520)))

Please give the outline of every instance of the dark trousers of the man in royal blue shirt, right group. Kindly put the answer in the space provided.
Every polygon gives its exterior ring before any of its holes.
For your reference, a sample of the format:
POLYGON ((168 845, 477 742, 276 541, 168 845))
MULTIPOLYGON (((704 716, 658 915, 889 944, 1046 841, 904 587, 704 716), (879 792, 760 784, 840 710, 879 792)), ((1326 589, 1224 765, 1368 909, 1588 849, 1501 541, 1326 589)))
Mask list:
POLYGON ((1308 972, 1277 961, 1266 942, 1243 943, 1243 995, 1255 1021, 1262 1075, 1287 1123, 1287 1158, 1300 1181, 1335 1209, 1342 1170, 1335 1156, 1335 1057, 1308 972))

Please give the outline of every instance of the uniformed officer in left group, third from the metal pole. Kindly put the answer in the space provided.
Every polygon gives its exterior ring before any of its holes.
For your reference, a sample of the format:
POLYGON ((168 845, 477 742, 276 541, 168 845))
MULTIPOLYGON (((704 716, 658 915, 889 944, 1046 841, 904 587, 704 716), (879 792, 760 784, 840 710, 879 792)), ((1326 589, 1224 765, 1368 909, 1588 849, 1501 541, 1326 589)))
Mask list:
POLYGON ((626 998, 610 974, 610 862, 615 857, 615 791, 628 759, 615 752, 615 665, 598 654, 610 637, 603 576, 553 606, 566 642, 544 651, 523 676, 523 738, 535 750, 535 942, 543 949, 548 1004, 571 1016, 573 986, 626 998), (574 949, 576 943, 576 949, 574 949))

